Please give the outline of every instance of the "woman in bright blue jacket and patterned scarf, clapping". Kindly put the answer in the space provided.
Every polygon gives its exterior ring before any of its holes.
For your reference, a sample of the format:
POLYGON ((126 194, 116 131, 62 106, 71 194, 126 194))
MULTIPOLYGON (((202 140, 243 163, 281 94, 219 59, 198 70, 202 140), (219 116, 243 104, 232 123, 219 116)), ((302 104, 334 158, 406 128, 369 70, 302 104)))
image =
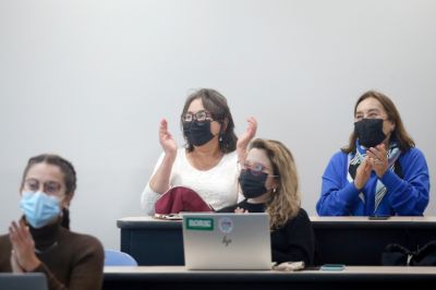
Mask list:
POLYGON ((320 216, 422 216, 428 168, 390 98, 370 90, 354 106, 354 131, 323 176, 320 216))

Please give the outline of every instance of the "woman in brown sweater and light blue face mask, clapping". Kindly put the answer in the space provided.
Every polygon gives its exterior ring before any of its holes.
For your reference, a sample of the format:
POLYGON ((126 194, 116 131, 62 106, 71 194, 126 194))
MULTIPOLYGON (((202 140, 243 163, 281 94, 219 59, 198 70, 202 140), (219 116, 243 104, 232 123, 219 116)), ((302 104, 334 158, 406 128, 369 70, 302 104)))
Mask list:
POLYGON ((28 160, 20 186, 24 216, 0 235, 0 271, 44 273, 50 290, 101 288, 100 242, 62 226, 75 188, 75 170, 62 157, 44 154, 28 160))

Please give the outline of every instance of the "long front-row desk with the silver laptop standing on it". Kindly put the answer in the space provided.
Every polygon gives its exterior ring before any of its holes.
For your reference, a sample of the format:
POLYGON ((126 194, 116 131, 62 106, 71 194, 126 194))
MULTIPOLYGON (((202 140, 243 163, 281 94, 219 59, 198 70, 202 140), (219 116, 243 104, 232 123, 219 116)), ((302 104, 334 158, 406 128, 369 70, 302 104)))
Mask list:
POLYGON ((143 266, 105 267, 102 289, 419 289, 434 282, 436 267, 347 266, 342 271, 286 273, 143 266))

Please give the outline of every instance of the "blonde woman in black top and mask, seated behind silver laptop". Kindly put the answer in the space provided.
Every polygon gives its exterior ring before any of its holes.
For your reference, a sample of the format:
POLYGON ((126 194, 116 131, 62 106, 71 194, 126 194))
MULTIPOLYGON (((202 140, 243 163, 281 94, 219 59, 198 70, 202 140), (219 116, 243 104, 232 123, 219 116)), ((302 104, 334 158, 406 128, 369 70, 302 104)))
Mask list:
POLYGON ((252 142, 239 177, 245 200, 220 212, 269 214, 272 261, 314 264, 315 238, 300 207, 299 181, 291 152, 280 142, 252 142))

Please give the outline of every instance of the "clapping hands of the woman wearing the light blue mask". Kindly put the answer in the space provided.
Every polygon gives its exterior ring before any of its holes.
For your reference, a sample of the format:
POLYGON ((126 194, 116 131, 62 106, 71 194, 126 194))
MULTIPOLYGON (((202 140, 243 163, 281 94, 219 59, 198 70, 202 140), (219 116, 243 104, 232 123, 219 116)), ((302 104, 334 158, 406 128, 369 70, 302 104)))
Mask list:
POLYGON ((13 249, 11 266, 13 266, 15 270, 20 270, 21 268, 24 271, 33 271, 40 265, 41 262, 35 254, 34 239, 23 220, 20 220, 20 223, 12 221, 9 227, 9 239, 13 249), (12 261, 12 258, 14 258, 14 261, 12 261), (16 265, 13 263, 16 263, 16 265))

